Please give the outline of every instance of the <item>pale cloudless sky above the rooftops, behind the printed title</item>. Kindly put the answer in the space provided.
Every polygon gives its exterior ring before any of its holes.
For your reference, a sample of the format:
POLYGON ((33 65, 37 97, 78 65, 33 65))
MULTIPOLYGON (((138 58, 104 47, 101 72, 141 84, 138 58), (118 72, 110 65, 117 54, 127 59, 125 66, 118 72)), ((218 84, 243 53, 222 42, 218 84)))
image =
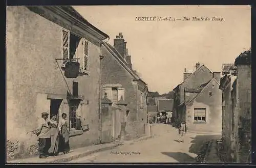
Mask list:
POLYGON ((234 63, 251 46, 250 6, 73 6, 85 19, 110 36, 120 32, 132 56, 133 69, 148 89, 160 94, 183 81, 184 68, 197 62, 212 72, 234 63), (156 17, 138 21, 136 17, 156 17), (157 18, 175 18, 175 21, 157 18), (183 17, 190 20, 183 20, 183 17), (193 17, 204 20, 193 20, 193 17), (205 18, 210 20, 205 20, 205 18), (212 20, 212 17, 223 20, 212 20), (177 20, 180 18, 181 20, 177 20))

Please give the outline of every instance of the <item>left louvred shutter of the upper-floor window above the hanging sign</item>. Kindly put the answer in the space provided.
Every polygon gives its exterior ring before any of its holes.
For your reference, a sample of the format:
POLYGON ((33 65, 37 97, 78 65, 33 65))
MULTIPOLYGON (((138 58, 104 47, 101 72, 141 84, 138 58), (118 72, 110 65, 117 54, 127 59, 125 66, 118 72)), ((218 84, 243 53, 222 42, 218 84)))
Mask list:
MULTIPOLYGON (((62 30, 62 59, 69 59, 69 42, 70 42, 70 31, 62 30)), ((62 60, 62 66, 65 67, 69 60, 62 60)))

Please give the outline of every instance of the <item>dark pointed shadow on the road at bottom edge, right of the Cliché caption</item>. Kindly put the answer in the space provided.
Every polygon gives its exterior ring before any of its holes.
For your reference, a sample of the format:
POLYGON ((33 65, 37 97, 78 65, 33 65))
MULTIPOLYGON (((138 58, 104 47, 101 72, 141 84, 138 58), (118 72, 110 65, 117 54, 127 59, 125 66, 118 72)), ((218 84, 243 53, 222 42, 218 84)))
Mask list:
POLYGON ((182 152, 161 152, 161 153, 164 155, 167 155, 169 157, 172 157, 181 163, 195 163, 196 162, 195 158, 189 156, 186 153, 182 153, 182 152))

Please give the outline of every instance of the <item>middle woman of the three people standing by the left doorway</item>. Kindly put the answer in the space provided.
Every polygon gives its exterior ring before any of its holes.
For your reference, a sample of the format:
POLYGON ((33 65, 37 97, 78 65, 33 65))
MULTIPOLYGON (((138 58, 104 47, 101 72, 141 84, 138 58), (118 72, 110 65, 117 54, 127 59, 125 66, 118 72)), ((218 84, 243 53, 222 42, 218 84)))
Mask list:
POLYGON ((58 155, 58 147, 59 147, 59 129, 58 129, 58 123, 56 121, 57 116, 52 116, 50 122, 50 136, 51 136, 51 147, 48 150, 48 153, 50 156, 56 156, 58 155))

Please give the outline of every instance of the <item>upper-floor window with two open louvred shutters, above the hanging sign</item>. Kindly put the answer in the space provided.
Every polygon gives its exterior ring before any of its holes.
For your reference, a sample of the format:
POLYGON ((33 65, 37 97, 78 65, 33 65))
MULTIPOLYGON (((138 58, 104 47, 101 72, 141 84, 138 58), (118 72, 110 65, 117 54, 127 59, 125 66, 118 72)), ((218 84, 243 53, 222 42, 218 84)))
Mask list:
MULTIPOLYGON (((72 59, 80 59, 80 69, 83 72, 88 72, 89 70, 89 42, 77 35, 71 33, 69 30, 62 30, 62 59, 71 59, 71 61, 78 61, 72 59), (82 52, 78 48, 82 45, 82 52)), ((65 67, 69 60, 62 60, 62 67, 65 67)))

